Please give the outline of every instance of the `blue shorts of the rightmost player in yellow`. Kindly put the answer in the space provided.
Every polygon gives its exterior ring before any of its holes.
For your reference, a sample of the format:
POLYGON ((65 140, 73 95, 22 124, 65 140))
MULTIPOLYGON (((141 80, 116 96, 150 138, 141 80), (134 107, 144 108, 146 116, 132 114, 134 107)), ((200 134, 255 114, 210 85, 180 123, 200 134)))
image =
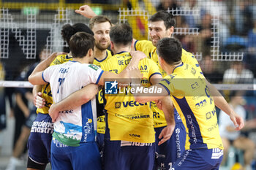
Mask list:
POLYGON ((223 150, 219 148, 186 150, 170 170, 215 170, 219 169, 222 157, 223 150))

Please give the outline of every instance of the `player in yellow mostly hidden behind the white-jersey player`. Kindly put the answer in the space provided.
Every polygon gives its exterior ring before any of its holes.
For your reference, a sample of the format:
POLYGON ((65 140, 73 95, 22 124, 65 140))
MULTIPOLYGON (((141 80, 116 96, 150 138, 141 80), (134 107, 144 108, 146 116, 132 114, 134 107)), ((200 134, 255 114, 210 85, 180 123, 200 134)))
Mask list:
MULTIPOLYGON (((75 23, 73 26, 70 26, 69 24, 64 25, 61 30, 61 35, 69 44, 70 37, 78 31, 93 34, 90 28, 85 24, 75 23)), ((71 55, 59 54, 53 53, 53 55, 50 56, 50 58, 55 58, 55 60, 50 63, 50 66, 72 60, 71 55), (58 56, 56 57, 56 55, 58 56)), ((43 69, 46 69, 46 67, 42 68, 42 70, 43 69)), ((47 163, 50 162, 50 143, 53 134, 53 123, 50 115, 48 115, 48 110, 51 104, 53 104, 50 84, 34 86, 33 93, 34 104, 37 107, 37 118, 34 120, 31 127, 31 134, 28 141, 29 158, 27 162, 27 169, 43 170, 47 163)))

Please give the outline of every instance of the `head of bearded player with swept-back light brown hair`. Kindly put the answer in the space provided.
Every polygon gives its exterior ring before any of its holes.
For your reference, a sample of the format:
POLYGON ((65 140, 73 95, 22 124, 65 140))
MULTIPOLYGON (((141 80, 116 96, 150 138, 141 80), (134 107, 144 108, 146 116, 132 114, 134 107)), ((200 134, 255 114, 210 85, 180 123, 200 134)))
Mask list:
POLYGON ((106 50, 110 45, 110 27, 112 23, 104 15, 97 15, 89 22, 91 30, 94 32, 95 47, 99 50, 106 50))

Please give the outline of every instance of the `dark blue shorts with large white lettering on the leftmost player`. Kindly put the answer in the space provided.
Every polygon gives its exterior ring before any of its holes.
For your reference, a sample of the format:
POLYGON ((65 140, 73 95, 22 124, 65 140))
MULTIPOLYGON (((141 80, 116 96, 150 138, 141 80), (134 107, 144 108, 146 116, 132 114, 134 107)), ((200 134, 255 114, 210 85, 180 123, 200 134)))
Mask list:
POLYGON ((29 158, 35 163, 46 164, 50 161, 52 134, 53 123, 50 116, 38 113, 28 140, 29 158))

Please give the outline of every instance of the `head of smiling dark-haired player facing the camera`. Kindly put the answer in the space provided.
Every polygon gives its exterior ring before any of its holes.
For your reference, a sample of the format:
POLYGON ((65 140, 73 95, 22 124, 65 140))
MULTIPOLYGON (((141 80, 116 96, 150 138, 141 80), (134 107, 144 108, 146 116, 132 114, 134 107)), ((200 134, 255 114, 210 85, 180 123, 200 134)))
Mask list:
POLYGON ((157 42, 173 34, 175 19, 170 13, 159 11, 148 19, 148 34, 154 46, 157 42))

